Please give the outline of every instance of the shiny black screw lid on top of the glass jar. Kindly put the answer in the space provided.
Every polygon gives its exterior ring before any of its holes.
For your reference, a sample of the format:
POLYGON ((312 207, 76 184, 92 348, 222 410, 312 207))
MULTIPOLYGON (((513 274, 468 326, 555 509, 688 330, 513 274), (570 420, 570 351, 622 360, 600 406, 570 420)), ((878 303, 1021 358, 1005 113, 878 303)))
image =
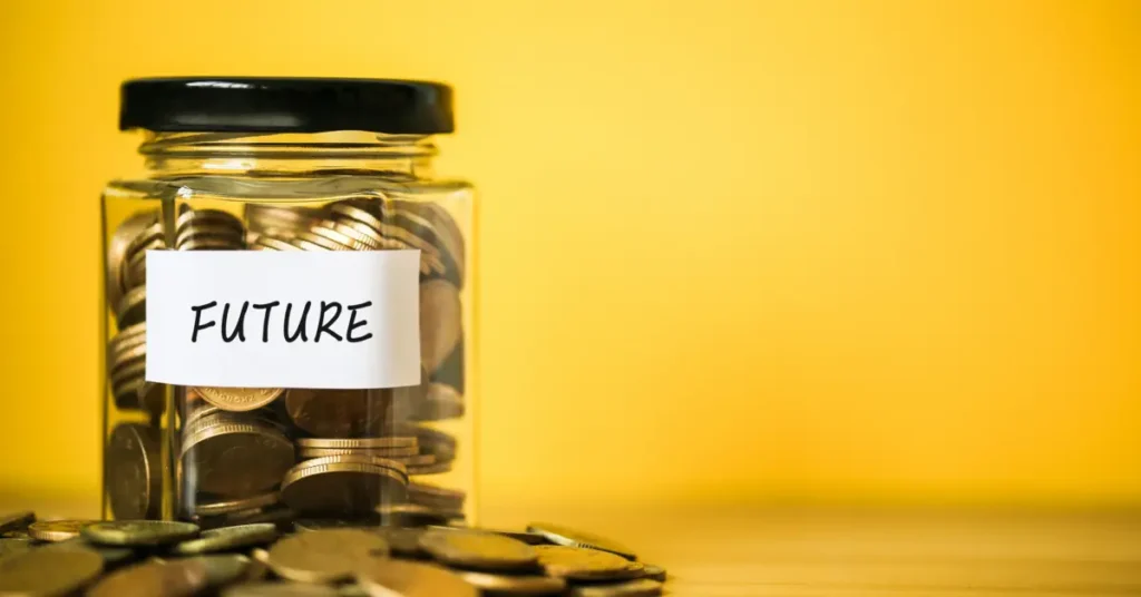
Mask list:
POLYGON ((123 82, 119 129, 161 132, 452 132, 452 88, 430 81, 193 76, 123 82))

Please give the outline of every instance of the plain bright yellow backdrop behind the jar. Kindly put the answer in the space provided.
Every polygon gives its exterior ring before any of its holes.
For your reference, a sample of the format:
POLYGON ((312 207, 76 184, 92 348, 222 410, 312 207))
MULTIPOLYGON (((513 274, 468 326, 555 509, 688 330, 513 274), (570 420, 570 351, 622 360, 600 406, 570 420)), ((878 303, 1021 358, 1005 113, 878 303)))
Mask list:
POLYGON ((0 498, 99 452, 122 79, 442 79, 485 503, 1141 500, 1141 9, 6 2, 0 498))

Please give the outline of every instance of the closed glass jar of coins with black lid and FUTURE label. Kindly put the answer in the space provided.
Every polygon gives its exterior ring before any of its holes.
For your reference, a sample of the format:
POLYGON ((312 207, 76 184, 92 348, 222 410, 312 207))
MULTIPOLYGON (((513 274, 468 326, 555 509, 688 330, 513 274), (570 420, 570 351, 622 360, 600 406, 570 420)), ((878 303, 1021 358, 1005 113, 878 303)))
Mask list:
POLYGON ((103 194, 104 517, 472 521, 474 193, 432 176, 451 110, 414 81, 123 84, 146 170, 103 194))

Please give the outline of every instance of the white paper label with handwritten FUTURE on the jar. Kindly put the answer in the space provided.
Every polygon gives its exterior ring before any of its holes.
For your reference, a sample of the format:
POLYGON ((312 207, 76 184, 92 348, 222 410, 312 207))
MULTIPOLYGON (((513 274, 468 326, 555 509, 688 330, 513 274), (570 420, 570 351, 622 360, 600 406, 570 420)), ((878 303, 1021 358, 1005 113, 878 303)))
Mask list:
POLYGON ((420 251, 147 251, 146 380, 420 384, 420 251))

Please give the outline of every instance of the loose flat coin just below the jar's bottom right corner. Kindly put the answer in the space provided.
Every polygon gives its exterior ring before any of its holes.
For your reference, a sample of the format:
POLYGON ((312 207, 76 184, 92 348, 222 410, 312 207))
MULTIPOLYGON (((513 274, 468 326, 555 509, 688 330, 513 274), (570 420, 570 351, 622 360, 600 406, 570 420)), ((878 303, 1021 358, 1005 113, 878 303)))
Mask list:
POLYGON ((523 541, 469 530, 428 531, 420 547, 450 566, 487 571, 533 568, 539 555, 523 541))

